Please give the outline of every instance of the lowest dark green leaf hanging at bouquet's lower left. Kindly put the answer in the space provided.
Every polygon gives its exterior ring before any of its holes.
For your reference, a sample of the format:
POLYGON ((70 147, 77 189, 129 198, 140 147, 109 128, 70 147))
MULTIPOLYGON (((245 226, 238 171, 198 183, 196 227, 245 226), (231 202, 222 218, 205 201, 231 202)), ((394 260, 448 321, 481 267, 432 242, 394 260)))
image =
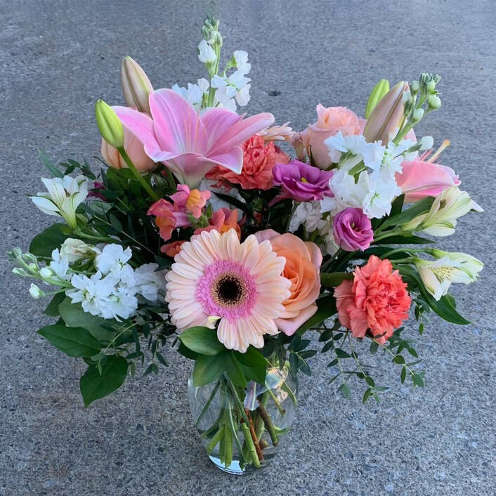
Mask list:
POLYGON ((79 379, 84 406, 87 407, 93 401, 107 396, 122 386, 126 373, 127 362, 122 356, 108 356, 101 367, 101 374, 96 365, 89 365, 84 376, 79 379))

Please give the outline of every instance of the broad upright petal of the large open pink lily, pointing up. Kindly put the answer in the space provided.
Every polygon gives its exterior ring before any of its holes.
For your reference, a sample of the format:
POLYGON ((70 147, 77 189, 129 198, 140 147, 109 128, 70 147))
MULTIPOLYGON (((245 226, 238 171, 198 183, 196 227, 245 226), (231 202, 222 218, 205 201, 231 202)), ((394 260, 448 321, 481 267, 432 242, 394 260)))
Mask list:
POLYGON ((207 153, 207 133, 195 109, 170 89, 150 92, 153 129, 161 150, 207 153))

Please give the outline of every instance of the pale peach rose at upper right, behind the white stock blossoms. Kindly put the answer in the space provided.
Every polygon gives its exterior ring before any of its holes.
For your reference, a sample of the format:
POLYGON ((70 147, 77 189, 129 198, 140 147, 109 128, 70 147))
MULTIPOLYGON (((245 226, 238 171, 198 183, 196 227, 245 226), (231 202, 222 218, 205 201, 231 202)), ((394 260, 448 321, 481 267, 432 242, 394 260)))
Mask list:
POLYGON ((301 131, 298 138, 306 148, 308 157, 310 152, 312 153, 313 163, 320 169, 327 169, 331 159, 324 140, 334 136, 338 131, 341 131, 343 136, 362 134, 365 122, 365 119, 361 119, 346 107, 325 108, 319 103, 317 122, 308 124, 308 128, 301 131))

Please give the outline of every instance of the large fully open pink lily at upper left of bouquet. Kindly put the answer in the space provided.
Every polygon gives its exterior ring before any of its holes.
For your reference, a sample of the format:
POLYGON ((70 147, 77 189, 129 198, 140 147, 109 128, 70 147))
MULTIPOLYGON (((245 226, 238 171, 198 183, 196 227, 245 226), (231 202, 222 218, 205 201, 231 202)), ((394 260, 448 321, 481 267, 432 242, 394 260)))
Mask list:
POLYGON ((190 188, 197 187, 217 164, 239 174, 243 165, 241 143, 274 122, 272 114, 243 119, 219 107, 200 115, 170 89, 150 91, 149 98, 152 117, 126 107, 113 109, 143 143, 145 153, 167 165, 178 181, 190 188))

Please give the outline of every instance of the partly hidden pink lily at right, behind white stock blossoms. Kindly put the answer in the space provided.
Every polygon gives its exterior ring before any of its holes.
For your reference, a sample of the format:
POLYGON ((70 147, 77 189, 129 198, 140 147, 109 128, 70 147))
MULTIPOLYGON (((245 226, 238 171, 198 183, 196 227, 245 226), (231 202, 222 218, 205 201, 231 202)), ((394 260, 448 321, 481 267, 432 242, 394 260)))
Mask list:
POLYGON ((405 193, 406 203, 417 202, 426 196, 437 196, 445 188, 462 183, 450 167, 422 159, 403 162, 401 172, 396 173, 395 179, 401 192, 405 193))

